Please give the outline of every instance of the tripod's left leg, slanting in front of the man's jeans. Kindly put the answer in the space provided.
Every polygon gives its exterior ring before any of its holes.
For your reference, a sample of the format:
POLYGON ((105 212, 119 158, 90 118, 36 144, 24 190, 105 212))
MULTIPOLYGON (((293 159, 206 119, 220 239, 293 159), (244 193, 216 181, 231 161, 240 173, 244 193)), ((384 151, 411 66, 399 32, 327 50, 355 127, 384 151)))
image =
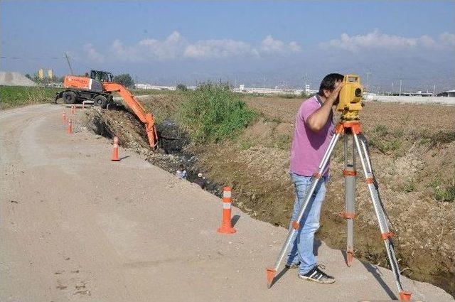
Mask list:
POLYGON ((287 235, 286 241, 284 242, 284 245, 283 245, 281 251, 279 252, 277 261, 275 262, 275 265, 273 268, 267 268, 267 282, 268 282, 269 288, 272 286, 272 282, 273 282, 273 279, 275 278, 275 274, 277 274, 277 270, 279 268, 279 265, 283 261, 284 255, 286 254, 289 244, 291 244, 291 239, 294 237, 294 233, 299 230, 299 222, 300 222, 301 218, 304 216, 304 212, 309 203, 309 200, 311 199, 311 195, 313 195, 314 190, 316 190, 316 186, 318 185, 319 180, 321 179, 321 175, 327 166, 328 159, 330 158, 331 154, 333 153, 333 149, 335 148, 336 142, 338 141, 339 137, 340 137, 339 133, 335 134, 332 137, 330 143, 328 144, 327 151, 326 151, 326 153, 324 153, 322 161, 319 164, 318 171, 316 172, 316 174, 313 177, 313 180, 311 181, 310 189, 306 192, 304 203, 300 207, 296 220, 292 223, 293 227, 291 228, 291 230, 289 230, 289 234, 287 235))

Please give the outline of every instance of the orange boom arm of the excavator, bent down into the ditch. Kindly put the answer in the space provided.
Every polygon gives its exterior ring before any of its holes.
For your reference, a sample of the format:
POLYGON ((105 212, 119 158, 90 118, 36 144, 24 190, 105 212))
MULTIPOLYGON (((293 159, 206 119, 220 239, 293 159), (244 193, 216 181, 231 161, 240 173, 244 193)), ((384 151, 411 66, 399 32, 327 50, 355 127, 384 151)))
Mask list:
POLYGON ((123 85, 113 82, 102 82, 102 87, 106 92, 117 92, 124 99, 134 114, 136 114, 141 122, 145 124, 151 149, 156 149, 156 146, 158 145, 158 135, 156 134, 155 119, 153 114, 146 112, 144 107, 142 107, 137 99, 134 98, 134 95, 132 95, 132 93, 129 92, 129 90, 127 90, 127 88, 123 85))

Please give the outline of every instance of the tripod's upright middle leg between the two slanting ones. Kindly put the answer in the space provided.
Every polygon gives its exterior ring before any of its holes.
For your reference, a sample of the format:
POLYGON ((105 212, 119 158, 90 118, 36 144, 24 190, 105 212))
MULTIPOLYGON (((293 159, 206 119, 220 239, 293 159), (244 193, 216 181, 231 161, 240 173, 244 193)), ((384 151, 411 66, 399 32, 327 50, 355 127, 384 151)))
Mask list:
POLYGON ((341 217, 346 219, 346 264, 350 266, 354 259, 354 218, 355 218, 355 141, 352 139, 350 149, 352 161, 348 162, 348 139, 353 137, 345 134, 344 142, 344 185, 345 185, 345 211, 341 212, 341 217))

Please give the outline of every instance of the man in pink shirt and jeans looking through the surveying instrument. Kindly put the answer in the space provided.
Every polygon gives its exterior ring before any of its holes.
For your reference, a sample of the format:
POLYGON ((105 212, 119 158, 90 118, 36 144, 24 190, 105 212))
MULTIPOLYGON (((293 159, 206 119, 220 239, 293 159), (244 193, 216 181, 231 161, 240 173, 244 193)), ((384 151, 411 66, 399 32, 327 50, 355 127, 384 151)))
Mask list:
MULTIPOLYGON (((291 222, 296 220, 306 190, 311 186, 311 176, 318 171, 319 163, 333 136, 332 106, 338 103, 343 75, 331 73, 321 82, 319 92, 302 102, 296 116, 294 136, 291 146, 291 178, 295 189, 294 212, 291 222)), ((323 284, 333 283, 332 276, 321 271, 313 253, 314 233, 319 229, 321 205, 326 194, 328 166, 322 173, 314 194, 299 223, 298 232, 292 238, 286 266, 299 268, 299 278, 323 284)), ((292 227, 292 226, 290 226, 292 227)))

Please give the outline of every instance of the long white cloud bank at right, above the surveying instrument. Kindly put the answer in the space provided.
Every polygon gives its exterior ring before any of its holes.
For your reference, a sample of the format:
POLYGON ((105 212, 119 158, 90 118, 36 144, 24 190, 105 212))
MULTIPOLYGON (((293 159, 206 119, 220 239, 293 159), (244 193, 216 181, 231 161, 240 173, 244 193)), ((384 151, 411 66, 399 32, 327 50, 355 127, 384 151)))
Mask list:
MULTIPOLYGON (((450 39, 450 37, 446 38, 450 39)), ((333 39, 328 43, 323 43, 323 46, 326 45, 355 52, 362 49, 373 48, 397 49, 416 48, 420 46, 426 48, 434 48, 437 47, 437 42, 429 36, 421 36, 419 38, 406 38, 396 35, 387 35, 386 33, 381 33, 376 29, 371 33, 357 36, 349 36, 347 33, 343 33, 341 34, 340 38, 333 39)))

